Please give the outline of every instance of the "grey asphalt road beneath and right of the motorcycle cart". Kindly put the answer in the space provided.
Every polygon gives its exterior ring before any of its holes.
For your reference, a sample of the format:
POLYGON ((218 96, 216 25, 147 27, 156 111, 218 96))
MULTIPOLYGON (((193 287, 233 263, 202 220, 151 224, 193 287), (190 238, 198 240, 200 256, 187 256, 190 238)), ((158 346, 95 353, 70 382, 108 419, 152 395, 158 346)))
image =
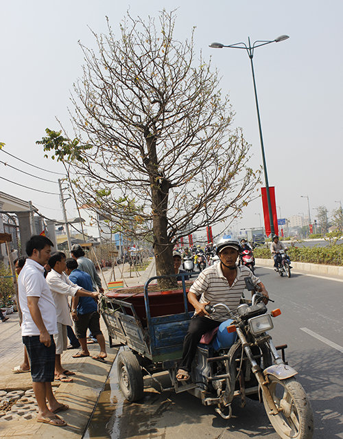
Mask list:
MULTIPOLYGON (((300 273, 281 278, 265 268, 257 268, 257 275, 275 300, 272 306, 281 308, 271 334, 275 344, 289 346, 287 360, 298 370, 314 411, 314 438, 343 439, 343 282, 300 273)), ((167 376, 160 379, 168 385, 167 376)), ((151 379, 145 379, 145 387, 141 403, 127 403, 113 368, 84 437, 279 439, 258 402, 248 400, 242 409, 235 401, 234 417, 224 420, 190 394, 161 394, 151 379)))

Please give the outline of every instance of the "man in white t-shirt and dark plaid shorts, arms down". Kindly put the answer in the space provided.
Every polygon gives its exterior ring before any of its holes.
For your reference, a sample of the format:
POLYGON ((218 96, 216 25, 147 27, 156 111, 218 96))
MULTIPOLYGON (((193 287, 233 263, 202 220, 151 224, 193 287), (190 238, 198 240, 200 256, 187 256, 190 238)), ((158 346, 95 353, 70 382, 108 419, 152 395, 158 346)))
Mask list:
POLYGON ((38 404, 37 422, 63 427, 67 423, 56 413, 69 406, 58 403, 51 387, 57 321, 54 299, 44 278, 44 265, 49 260, 51 246, 54 244, 46 236, 32 236, 27 242, 28 258, 18 278, 19 304, 23 313, 23 344, 31 362, 32 387, 38 404))

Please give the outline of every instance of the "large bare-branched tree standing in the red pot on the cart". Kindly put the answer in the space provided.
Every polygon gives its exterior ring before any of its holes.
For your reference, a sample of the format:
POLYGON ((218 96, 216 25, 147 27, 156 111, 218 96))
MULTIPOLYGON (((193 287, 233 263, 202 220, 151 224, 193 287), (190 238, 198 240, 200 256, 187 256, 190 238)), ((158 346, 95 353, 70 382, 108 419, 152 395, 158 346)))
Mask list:
POLYGON ((158 275, 174 271, 181 236, 239 216, 260 172, 231 128, 217 72, 201 54, 196 60, 193 31, 189 41, 174 39, 174 23, 174 12, 161 12, 158 25, 128 14, 121 38, 108 24, 108 34, 93 33, 96 52, 80 43, 84 74, 71 120, 82 141, 54 147, 71 162, 83 203, 119 228, 132 216, 126 232, 152 237, 158 275))

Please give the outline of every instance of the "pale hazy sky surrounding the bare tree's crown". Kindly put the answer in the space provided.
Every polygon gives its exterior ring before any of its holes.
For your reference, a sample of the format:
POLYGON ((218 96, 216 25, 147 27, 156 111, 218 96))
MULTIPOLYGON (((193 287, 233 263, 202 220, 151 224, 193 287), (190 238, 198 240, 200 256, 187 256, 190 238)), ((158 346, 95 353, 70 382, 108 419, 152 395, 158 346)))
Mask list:
MULTIPOLYGON (((61 164, 45 159, 36 140, 45 128, 69 128, 68 108, 75 82, 82 76, 81 41, 94 47, 91 33, 106 32, 106 16, 119 36, 119 23, 132 16, 158 16, 165 8, 177 10, 174 36, 185 40, 196 26, 195 49, 222 76, 221 87, 230 95, 240 126, 251 144, 250 166, 261 166, 261 146, 250 61, 244 50, 211 49, 226 45, 289 39, 259 47, 254 55, 269 184, 276 188, 282 218, 311 217, 324 205, 331 213, 343 201, 343 3, 340 0, 59 0, 3 1, 1 4, 0 142, 5 151, 46 170, 63 172, 61 164)), ((32 168, 0 150, 0 160, 42 181, 0 163, 0 191, 31 200, 49 218, 62 218, 56 179, 51 172, 32 168), (30 188, 51 194, 35 192, 30 188)), ((67 201, 68 216, 76 216, 67 201)), ((252 201, 236 229, 259 227, 261 199, 252 201)))

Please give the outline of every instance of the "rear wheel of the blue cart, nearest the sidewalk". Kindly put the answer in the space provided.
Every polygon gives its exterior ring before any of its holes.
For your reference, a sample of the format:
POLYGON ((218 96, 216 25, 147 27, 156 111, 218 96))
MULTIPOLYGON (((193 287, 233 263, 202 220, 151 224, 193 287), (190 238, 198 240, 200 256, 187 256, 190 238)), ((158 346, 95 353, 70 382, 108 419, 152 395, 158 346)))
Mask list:
POLYGON ((130 350, 120 352, 117 361, 119 387, 123 396, 134 403, 143 398, 143 375, 137 357, 130 350))

